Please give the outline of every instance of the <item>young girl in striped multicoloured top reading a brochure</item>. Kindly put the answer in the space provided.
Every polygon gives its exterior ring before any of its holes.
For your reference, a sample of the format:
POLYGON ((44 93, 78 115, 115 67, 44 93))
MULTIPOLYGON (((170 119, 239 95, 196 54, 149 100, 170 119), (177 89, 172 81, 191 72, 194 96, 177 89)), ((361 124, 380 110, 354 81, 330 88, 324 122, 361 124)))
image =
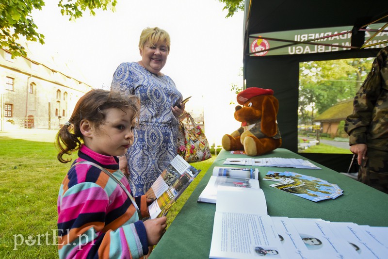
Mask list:
POLYGON ((140 220, 139 214, 149 216, 150 200, 143 195, 135 202, 119 170, 117 157, 133 143, 138 103, 134 96, 91 90, 59 130, 58 160, 70 162, 64 155, 78 150, 58 196, 60 258, 140 258, 165 232, 166 217, 140 220))

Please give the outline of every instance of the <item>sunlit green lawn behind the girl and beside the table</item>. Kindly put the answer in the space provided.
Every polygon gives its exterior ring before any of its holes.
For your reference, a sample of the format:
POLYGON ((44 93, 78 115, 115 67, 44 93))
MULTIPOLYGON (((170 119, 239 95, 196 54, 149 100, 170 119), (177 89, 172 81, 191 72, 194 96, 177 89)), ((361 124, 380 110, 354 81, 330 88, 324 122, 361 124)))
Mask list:
MULTIPOLYGON (((0 136, 1 259, 58 258, 53 240, 53 229, 57 228, 57 197, 70 164, 58 162, 56 156, 52 143, 0 136), (35 244, 21 244, 30 234, 35 244), (21 245, 14 250, 15 244, 21 245)), ((214 157, 192 164, 202 171, 168 212, 168 225, 213 161, 214 157)))

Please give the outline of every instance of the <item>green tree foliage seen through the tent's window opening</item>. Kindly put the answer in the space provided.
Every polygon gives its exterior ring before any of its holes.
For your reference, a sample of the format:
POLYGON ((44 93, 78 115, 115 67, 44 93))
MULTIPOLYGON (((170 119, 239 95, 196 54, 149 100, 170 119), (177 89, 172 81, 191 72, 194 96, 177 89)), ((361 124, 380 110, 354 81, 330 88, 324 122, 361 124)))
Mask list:
POLYGON ((354 98, 372 67, 372 58, 311 61, 299 67, 299 119, 312 124, 316 115, 339 101, 354 98))

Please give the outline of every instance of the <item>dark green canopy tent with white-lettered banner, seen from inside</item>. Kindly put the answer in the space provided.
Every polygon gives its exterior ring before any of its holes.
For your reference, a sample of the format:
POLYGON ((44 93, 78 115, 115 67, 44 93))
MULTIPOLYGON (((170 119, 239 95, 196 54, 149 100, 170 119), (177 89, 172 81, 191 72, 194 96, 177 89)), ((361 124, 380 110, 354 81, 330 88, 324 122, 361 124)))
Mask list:
MULTIPOLYGON (((246 87, 274 90, 283 148, 298 151, 299 63, 375 57, 388 45, 387 23, 386 0, 245 0, 244 80, 246 87)), ((301 155, 339 172, 352 159, 301 155)))

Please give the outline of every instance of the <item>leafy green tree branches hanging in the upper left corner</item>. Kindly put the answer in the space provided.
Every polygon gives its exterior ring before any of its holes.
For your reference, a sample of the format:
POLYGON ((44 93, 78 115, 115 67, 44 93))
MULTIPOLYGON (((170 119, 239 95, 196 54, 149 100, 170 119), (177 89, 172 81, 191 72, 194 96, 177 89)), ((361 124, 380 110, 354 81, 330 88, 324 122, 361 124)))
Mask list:
MULTIPOLYGON (((95 15, 94 9, 114 10, 116 0, 59 0, 61 14, 69 20, 82 17, 86 9, 95 15)), ((25 48, 18 42, 19 38, 38 41, 44 44, 45 36, 37 32, 38 27, 31 16, 32 10, 42 10, 44 0, 7 0, 0 2, 0 48, 9 51, 12 57, 27 56, 25 48)))

